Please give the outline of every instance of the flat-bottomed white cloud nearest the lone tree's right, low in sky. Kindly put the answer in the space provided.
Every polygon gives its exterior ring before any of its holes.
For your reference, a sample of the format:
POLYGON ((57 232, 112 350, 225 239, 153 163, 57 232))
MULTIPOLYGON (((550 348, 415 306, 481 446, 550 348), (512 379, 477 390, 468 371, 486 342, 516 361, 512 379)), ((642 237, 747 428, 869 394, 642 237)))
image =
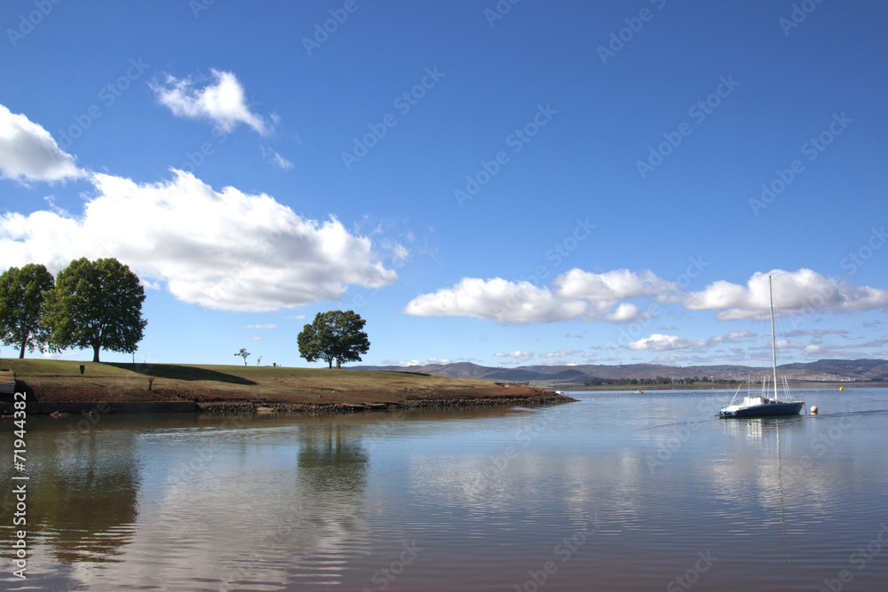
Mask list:
POLYGON ((529 281, 464 278, 454 288, 416 296, 403 312, 420 317, 473 317, 521 325, 573 319, 584 310, 583 302, 558 298, 547 288, 537 288, 529 281))

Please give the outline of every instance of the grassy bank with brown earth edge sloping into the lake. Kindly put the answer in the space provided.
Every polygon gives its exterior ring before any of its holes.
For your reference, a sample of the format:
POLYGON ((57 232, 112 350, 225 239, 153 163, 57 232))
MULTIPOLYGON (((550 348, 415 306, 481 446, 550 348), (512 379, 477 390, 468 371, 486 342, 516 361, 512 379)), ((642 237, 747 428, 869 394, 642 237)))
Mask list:
POLYGON ((4 361, 17 379, 27 384, 33 398, 41 402, 187 400, 355 405, 403 404, 408 399, 517 401, 551 396, 551 391, 535 387, 407 372, 44 359, 4 361))

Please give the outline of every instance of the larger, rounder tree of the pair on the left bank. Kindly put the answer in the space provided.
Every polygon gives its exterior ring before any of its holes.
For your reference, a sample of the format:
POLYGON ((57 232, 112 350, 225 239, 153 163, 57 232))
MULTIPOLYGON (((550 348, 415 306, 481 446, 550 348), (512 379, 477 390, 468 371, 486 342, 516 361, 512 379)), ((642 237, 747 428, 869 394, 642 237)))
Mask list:
POLYGON ((114 258, 72 261, 46 293, 44 327, 59 348, 103 348, 133 353, 148 323, 142 318, 145 288, 139 277, 114 258))

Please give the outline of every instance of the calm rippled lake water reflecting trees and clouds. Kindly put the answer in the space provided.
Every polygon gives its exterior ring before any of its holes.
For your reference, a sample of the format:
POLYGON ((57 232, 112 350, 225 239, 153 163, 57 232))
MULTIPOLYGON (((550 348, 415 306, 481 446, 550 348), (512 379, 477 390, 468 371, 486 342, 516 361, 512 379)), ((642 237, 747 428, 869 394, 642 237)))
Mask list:
MULTIPOLYGON (((888 589, 888 389, 28 418, 29 590, 888 589)), ((12 420, 0 421, 12 457, 12 420)), ((17 473, 15 473, 17 474, 17 473)))

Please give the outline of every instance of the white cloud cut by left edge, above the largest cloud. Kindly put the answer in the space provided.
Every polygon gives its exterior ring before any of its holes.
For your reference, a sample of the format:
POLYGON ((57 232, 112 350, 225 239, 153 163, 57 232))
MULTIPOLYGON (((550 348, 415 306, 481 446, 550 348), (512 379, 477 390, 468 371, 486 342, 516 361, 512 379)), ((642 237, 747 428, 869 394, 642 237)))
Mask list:
POLYGON ((0 105, 0 178, 52 183, 86 174, 42 126, 0 105))

